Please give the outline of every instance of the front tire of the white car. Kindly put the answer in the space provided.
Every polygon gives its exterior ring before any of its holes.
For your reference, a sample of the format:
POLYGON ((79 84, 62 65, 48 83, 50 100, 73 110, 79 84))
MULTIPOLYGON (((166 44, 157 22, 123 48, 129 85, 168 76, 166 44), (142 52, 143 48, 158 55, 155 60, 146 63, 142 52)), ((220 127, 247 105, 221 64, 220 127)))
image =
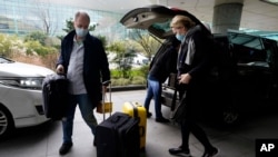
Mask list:
POLYGON ((12 133, 13 124, 11 114, 0 105, 0 139, 7 138, 12 133))

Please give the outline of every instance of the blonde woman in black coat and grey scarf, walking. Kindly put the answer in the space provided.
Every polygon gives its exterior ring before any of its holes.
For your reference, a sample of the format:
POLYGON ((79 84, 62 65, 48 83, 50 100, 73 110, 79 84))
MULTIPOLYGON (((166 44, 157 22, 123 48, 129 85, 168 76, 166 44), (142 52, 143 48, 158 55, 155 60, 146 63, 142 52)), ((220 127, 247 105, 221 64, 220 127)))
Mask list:
POLYGON ((181 41, 177 68, 179 84, 186 87, 180 92, 183 94, 181 104, 186 105, 186 110, 183 117, 179 119, 181 145, 178 148, 170 148, 169 153, 190 157, 189 135, 191 133, 205 147, 202 157, 214 157, 219 150, 210 144, 206 133, 197 125, 198 118, 202 115, 201 91, 210 67, 210 40, 207 38, 206 28, 196 26, 188 17, 176 16, 170 24, 177 39, 181 41))

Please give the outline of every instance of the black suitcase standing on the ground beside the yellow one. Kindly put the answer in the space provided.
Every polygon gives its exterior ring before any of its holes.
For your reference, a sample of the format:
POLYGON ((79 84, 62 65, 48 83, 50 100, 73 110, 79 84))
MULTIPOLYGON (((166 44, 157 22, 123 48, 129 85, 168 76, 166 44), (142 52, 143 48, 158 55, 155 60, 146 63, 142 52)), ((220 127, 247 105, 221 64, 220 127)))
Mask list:
POLYGON ((139 157, 139 119, 115 112, 96 128, 97 157, 139 157))

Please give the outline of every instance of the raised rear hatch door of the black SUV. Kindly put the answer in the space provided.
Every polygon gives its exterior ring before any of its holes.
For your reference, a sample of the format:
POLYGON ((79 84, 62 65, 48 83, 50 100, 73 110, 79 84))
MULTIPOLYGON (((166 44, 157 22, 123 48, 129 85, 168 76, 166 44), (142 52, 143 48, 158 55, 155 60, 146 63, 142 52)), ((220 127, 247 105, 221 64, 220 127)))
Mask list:
POLYGON ((156 37, 166 39, 172 35, 170 21, 176 14, 187 16, 197 24, 201 23, 195 16, 185 10, 157 4, 136 8, 127 12, 121 18, 120 23, 127 28, 148 30, 156 37))

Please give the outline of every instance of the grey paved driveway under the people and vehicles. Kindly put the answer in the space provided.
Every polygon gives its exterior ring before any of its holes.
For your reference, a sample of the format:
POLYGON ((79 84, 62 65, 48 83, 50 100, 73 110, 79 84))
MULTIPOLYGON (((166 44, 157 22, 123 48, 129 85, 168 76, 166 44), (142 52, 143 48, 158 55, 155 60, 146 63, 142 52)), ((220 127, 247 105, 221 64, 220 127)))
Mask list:
MULTIPOLYGON (((125 101, 143 102, 146 91, 118 91, 112 94, 115 111, 121 111, 125 101)), ((150 106, 153 112, 153 104, 150 106)), ((165 116, 169 108, 162 107, 165 116)), ((218 128, 202 125, 212 144, 220 148, 219 157, 255 157, 256 138, 278 138, 278 111, 264 111, 251 116, 235 128, 218 128)), ((107 115, 108 116, 108 115, 107 115)), ((102 115, 97 114, 98 120, 102 115)), ((61 124, 48 122, 38 127, 18 129, 13 137, 0 141, 0 157, 59 157, 61 124)), ((97 157, 92 146, 93 137, 77 110, 73 129, 73 147, 66 157, 97 157)), ((180 145, 179 127, 173 124, 158 124, 148 119, 146 153, 141 157, 171 157, 168 148, 180 145)), ((193 136, 190 138, 193 157, 200 157, 203 148, 193 136)))

